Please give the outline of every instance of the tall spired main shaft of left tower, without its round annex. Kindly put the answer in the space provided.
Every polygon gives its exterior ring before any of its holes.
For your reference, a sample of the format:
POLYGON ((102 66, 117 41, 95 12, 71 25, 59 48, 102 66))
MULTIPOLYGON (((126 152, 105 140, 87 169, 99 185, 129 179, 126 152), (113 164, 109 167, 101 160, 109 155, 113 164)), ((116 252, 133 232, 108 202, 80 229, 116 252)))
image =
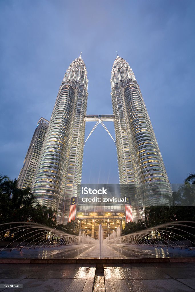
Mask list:
POLYGON ((77 196, 77 185, 81 183, 82 162, 84 150, 85 120, 87 112, 87 69, 81 56, 75 59, 65 73, 63 82, 71 84, 75 88, 74 119, 69 148, 66 157, 63 186, 60 205, 58 209, 58 221, 66 223, 69 217, 70 199, 77 196))

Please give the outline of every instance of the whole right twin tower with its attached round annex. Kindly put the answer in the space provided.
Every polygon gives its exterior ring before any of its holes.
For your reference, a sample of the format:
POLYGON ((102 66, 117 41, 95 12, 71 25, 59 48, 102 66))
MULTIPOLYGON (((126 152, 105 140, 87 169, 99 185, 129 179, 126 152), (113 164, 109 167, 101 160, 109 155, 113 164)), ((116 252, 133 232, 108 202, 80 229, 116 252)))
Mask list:
POLYGON ((111 88, 120 183, 135 183, 139 215, 143 215, 147 206, 170 202, 170 183, 139 85, 120 57, 113 65, 111 88), (129 148, 126 155, 124 142, 129 148))

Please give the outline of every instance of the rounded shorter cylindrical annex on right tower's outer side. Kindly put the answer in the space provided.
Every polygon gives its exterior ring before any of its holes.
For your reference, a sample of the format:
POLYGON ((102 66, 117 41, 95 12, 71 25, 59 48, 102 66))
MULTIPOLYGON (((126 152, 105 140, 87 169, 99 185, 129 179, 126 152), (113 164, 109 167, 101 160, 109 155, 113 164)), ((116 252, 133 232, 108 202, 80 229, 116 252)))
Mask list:
POLYGON ((171 187, 141 91, 133 82, 124 87, 128 135, 132 143, 143 207, 169 203, 171 187))

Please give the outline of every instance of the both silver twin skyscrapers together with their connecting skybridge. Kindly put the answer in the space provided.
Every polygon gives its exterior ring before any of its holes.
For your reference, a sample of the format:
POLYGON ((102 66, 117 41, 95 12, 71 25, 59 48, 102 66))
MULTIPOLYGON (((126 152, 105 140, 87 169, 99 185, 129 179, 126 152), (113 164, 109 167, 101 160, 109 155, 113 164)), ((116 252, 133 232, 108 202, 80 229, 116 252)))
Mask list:
POLYGON ((136 221, 145 207, 167 205, 172 194, 139 85, 129 64, 117 55, 111 72, 113 115, 86 115, 87 86, 87 69, 80 56, 70 64, 59 88, 32 193, 41 205, 56 211, 59 223, 66 223, 70 200, 77 197, 81 183, 85 123, 112 120, 121 196, 132 198, 136 221))

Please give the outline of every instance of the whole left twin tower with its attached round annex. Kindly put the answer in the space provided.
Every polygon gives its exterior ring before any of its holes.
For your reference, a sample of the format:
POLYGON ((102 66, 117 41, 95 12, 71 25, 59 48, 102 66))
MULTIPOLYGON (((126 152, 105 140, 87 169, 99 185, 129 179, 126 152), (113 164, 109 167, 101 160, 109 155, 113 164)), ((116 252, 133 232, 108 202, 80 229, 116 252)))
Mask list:
POLYGON ((58 221, 63 217, 65 192, 68 197, 81 181, 87 85, 87 70, 79 57, 60 86, 32 184, 39 203, 58 211, 58 221))

